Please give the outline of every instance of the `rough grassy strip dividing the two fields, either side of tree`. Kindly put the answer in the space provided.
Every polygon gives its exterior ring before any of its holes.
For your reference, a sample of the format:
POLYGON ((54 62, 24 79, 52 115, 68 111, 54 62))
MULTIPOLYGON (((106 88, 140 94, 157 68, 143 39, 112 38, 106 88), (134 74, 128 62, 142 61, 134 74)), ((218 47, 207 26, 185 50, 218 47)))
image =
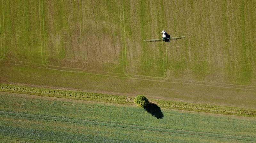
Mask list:
MULTIPOLYGON (((0 91, 20 93, 20 94, 32 94, 50 97, 60 97, 60 98, 70 98, 77 100, 87 100, 87 101, 100 101, 100 102, 115 102, 122 104, 134 104, 133 97, 123 96, 123 95, 113 95, 113 94, 100 94, 92 92, 80 92, 71 90, 61 90, 61 89, 50 89, 50 88, 39 88, 39 87, 25 87, 9 84, 0 84, 0 91)), ((238 107, 228 107, 228 106, 218 106, 218 105, 207 105, 207 104, 197 104, 188 102, 177 102, 168 100, 157 100, 149 99, 149 102, 155 103, 162 108, 170 109, 180 109, 189 111, 198 111, 206 113, 216 113, 216 114, 227 114, 227 115, 239 115, 246 117, 256 117, 255 109, 245 109, 238 107)))

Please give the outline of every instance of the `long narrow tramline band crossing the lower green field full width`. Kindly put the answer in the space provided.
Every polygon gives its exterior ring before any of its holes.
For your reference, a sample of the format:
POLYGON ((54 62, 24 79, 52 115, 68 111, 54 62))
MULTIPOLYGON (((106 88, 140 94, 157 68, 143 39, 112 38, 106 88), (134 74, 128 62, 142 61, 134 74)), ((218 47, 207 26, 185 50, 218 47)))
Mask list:
POLYGON ((140 125, 132 125, 132 124, 120 124, 120 123, 118 124, 118 123, 110 123, 110 122, 102 122, 102 121, 71 119, 71 118, 64 118, 64 117, 52 117, 52 116, 45 116, 45 115, 25 114, 25 113, 9 112, 9 111, 0 111, 0 114, 7 116, 7 117, 8 116, 23 117, 23 118, 31 118, 31 119, 77 123, 77 124, 91 124, 91 125, 136 129, 136 130, 144 130, 144 131, 177 133, 177 134, 187 134, 187 135, 196 135, 196 136, 205 136, 205 137, 213 137, 213 138, 223 138, 223 139, 236 139, 236 140, 255 141, 256 142, 255 137, 247 137, 247 136, 225 135, 225 134, 195 132, 195 131, 186 131, 186 130, 178 130, 178 129, 156 128, 156 127, 148 127, 148 126, 140 126, 140 125))

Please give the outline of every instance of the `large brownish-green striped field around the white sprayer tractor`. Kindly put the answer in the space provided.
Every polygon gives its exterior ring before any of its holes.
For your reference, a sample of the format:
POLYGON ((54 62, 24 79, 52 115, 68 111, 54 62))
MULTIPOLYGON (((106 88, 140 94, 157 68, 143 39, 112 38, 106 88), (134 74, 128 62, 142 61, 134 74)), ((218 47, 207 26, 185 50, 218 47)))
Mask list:
POLYGON ((255 109, 255 7, 0 0, 0 82, 255 109))

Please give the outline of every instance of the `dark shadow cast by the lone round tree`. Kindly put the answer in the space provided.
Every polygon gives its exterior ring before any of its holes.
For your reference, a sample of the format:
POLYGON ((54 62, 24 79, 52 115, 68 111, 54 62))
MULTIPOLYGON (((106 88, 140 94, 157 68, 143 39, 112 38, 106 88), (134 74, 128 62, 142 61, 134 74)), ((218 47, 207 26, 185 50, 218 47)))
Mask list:
POLYGON ((162 119, 164 117, 161 108, 158 107, 155 103, 149 102, 147 106, 144 107, 144 110, 146 110, 149 114, 151 114, 153 117, 156 117, 157 119, 162 119))

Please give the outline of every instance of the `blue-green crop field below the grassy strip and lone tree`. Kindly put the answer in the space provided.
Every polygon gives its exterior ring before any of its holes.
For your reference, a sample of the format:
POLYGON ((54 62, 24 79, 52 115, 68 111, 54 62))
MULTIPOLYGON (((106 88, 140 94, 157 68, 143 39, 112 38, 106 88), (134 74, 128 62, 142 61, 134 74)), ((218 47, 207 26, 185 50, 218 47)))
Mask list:
POLYGON ((256 142, 254 118, 0 93, 1 142, 256 142))

